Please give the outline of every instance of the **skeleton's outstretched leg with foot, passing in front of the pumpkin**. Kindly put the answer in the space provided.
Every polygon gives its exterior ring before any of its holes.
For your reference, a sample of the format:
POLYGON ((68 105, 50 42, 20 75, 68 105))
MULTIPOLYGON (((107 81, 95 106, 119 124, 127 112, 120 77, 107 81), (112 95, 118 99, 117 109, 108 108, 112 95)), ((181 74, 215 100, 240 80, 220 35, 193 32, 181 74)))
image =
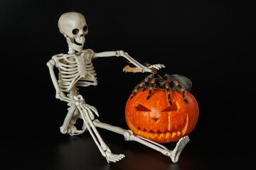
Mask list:
POLYGON ((176 163, 178 162, 178 157, 181 154, 181 151, 186 146, 187 142, 189 141, 189 137, 182 137, 178 143, 176 144, 176 147, 174 151, 171 151, 167 149, 166 147, 160 145, 159 143, 153 142, 151 140, 147 140, 144 137, 139 137, 137 135, 134 135, 132 130, 124 130, 122 128, 119 128, 117 126, 109 125, 107 123, 101 123, 100 120, 94 120, 93 123, 96 127, 103 128, 106 130, 110 130, 112 132, 116 132, 120 135, 124 135, 125 140, 132 140, 141 143, 142 145, 146 145, 147 147, 150 147, 151 149, 155 149, 158 152, 161 152, 162 154, 166 155, 167 157, 171 157, 171 160, 176 163))

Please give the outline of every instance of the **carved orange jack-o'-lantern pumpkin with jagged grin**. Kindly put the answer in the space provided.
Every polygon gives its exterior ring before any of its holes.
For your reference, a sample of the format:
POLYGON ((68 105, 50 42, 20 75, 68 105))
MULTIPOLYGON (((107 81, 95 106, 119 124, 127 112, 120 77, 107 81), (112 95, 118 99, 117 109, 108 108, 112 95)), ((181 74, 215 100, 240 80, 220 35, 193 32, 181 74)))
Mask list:
POLYGON ((199 108, 196 98, 188 91, 185 92, 188 103, 183 100, 181 91, 170 91, 172 105, 164 90, 152 90, 146 100, 148 95, 149 89, 141 89, 127 101, 125 119, 135 135, 158 143, 174 142, 195 128, 199 108))

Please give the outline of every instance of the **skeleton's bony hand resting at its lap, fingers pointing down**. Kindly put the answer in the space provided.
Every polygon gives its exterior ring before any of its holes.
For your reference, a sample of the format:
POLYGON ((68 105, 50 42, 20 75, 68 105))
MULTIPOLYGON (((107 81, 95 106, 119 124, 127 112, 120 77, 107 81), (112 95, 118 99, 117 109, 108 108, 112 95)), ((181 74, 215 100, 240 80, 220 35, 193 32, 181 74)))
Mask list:
POLYGON ((86 109, 92 120, 95 118, 93 113, 95 113, 95 115, 97 115, 98 117, 100 116, 97 108, 95 108, 95 106, 91 106, 85 103, 85 99, 82 97, 82 95, 74 96, 73 98, 75 100, 75 105, 80 108, 86 109))

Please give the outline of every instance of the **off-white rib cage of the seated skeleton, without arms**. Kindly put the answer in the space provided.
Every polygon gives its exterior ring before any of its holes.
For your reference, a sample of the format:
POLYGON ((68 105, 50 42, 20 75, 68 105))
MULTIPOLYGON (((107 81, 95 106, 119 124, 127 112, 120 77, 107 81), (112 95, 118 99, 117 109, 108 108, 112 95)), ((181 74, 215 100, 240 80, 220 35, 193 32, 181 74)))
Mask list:
POLYGON ((77 55, 60 54, 52 57, 59 70, 58 84, 61 91, 68 92, 74 85, 97 85, 92 57, 92 50, 83 50, 77 55))

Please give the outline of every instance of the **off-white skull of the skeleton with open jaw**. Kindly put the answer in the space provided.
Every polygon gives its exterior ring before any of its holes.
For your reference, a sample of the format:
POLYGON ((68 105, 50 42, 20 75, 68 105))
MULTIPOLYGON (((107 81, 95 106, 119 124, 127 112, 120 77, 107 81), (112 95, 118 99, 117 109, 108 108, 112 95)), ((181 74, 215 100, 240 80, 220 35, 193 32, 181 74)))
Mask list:
POLYGON ((63 13, 58 20, 58 28, 67 39, 69 47, 80 52, 88 33, 85 17, 77 12, 63 13))

